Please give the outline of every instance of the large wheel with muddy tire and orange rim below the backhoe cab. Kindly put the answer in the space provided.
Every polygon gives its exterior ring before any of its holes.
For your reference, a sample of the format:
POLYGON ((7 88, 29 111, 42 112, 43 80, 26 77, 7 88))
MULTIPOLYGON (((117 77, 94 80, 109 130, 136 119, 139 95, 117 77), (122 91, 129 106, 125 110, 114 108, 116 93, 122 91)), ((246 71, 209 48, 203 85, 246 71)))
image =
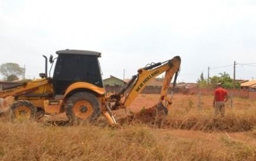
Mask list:
POLYGON ((69 97, 65 109, 72 125, 82 120, 94 122, 101 112, 98 98, 88 92, 79 92, 69 97))

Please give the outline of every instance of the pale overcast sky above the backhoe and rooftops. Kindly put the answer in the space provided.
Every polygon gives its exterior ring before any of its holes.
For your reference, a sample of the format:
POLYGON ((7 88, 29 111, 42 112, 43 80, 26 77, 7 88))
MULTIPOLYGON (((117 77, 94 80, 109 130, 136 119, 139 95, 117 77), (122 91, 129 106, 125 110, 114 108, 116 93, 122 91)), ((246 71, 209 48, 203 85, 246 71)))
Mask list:
MULTIPOLYGON (((103 78, 131 78, 149 63, 181 57, 178 82, 228 73, 256 79, 256 1, 0 0, 0 64, 26 78, 57 50, 101 52, 103 78)), ((53 73, 53 71, 51 72, 53 73)))

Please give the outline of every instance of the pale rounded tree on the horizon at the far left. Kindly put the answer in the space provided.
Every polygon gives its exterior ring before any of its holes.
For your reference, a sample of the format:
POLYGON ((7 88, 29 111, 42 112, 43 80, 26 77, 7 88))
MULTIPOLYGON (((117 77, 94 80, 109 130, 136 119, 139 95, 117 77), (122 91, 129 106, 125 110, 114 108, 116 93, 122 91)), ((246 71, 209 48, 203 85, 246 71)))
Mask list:
POLYGON ((8 80, 8 77, 18 78, 18 76, 23 76, 25 73, 25 68, 19 67, 19 64, 16 63, 4 63, 0 66, 0 73, 4 76, 5 80, 8 80))

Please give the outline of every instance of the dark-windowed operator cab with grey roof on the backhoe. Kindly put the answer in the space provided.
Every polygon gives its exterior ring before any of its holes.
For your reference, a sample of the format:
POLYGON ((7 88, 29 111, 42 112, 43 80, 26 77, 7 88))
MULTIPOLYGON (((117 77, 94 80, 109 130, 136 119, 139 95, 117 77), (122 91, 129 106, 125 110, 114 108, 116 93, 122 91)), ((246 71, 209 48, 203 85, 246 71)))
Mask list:
POLYGON ((68 86, 76 82, 86 82, 103 88, 99 52, 87 50, 59 50, 55 64, 53 88, 55 95, 63 95, 68 86))

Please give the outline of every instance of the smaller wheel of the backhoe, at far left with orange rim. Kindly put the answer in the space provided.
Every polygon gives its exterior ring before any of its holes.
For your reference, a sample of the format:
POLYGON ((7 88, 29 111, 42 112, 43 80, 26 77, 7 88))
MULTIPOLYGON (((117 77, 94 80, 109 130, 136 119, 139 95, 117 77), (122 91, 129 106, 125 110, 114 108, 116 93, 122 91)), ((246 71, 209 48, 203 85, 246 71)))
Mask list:
POLYGON ((28 120, 35 118, 36 108, 29 101, 15 101, 10 109, 11 119, 28 120))

